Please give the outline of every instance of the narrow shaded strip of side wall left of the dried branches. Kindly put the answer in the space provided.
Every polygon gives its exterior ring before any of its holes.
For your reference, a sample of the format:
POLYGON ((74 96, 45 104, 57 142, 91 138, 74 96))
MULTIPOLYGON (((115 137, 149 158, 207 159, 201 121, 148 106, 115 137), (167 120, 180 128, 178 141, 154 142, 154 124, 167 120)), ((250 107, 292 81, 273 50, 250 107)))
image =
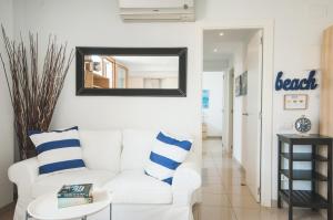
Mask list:
MULTIPOLYGON (((12 36, 12 1, 0 0, 0 23, 6 28, 9 36, 12 36)), ((0 40, 0 53, 4 55, 2 36, 0 40)), ((13 161, 13 122, 12 109, 3 74, 0 67, 0 208, 12 201, 12 184, 7 176, 8 167, 13 161)))

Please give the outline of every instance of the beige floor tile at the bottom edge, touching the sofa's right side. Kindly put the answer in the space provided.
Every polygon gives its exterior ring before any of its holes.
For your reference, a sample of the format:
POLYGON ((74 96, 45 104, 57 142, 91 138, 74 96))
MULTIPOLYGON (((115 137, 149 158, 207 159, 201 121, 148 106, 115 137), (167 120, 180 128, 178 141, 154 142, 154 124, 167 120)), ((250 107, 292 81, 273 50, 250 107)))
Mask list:
POLYGON ((236 220, 236 218, 230 208, 202 206, 199 210, 199 220, 236 220))

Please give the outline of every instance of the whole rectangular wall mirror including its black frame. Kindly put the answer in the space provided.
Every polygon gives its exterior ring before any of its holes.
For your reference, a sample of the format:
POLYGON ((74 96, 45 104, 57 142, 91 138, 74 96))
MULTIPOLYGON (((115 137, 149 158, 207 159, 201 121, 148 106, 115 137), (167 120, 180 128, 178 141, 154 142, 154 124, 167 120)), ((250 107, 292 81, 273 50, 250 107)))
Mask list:
POLYGON ((186 49, 77 48, 77 95, 185 96, 186 49))

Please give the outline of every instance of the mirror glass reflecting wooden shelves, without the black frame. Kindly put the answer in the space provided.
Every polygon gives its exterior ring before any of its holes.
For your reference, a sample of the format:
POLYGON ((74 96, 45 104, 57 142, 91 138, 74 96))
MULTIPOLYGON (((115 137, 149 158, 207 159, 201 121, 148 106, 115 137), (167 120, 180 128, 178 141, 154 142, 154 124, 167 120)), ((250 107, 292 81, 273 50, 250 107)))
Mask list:
POLYGON ((178 88, 179 56, 84 55, 85 88, 178 88))

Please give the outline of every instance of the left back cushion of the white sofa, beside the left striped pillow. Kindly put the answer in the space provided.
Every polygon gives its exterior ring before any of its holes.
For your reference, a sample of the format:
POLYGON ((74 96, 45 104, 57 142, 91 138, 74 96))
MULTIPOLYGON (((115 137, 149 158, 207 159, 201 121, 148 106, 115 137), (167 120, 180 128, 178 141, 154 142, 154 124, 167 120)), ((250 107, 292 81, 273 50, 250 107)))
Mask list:
POLYGON ((83 159, 88 168, 120 170, 120 130, 80 130, 83 159))

